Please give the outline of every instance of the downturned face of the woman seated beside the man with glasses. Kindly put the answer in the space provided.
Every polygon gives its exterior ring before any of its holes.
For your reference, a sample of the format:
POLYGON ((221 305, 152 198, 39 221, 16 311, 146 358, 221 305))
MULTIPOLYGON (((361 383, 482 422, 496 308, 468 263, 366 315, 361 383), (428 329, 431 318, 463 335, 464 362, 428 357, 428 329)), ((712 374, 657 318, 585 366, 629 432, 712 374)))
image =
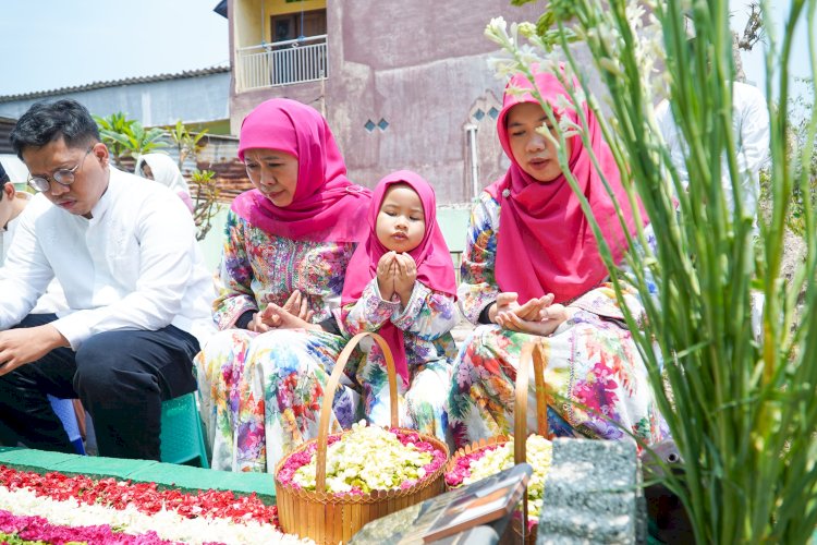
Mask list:
POLYGON ((255 189, 278 206, 292 204, 297 187, 297 158, 278 149, 246 149, 244 166, 255 189))

